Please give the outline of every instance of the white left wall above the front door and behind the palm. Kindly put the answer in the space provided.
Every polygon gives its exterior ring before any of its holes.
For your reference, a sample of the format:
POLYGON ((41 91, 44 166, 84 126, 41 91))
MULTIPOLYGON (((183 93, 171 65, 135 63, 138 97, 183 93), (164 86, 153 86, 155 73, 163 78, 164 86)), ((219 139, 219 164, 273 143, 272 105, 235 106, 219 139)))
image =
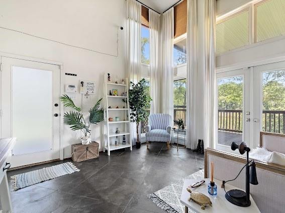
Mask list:
MULTIPOLYGON (((75 0, 0 0, 0 27, 12 28, 40 37, 53 39, 117 54, 117 30, 125 25, 125 0, 75 1, 75 0)), ((125 27, 125 26, 124 26, 125 27)), ((103 97, 103 74, 125 77, 125 29, 119 31, 119 56, 109 56, 92 51, 65 46, 51 41, 23 35, 0 28, 0 52, 48 59, 63 63, 64 84, 78 84, 79 79, 97 83, 97 94, 83 98, 87 111, 103 97)), ((76 104, 81 105, 77 94, 76 104)), ((91 138, 102 148, 102 127, 93 125, 91 138)), ((79 143, 79 134, 64 127, 64 158, 70 157, 71 144, 79 143)))

